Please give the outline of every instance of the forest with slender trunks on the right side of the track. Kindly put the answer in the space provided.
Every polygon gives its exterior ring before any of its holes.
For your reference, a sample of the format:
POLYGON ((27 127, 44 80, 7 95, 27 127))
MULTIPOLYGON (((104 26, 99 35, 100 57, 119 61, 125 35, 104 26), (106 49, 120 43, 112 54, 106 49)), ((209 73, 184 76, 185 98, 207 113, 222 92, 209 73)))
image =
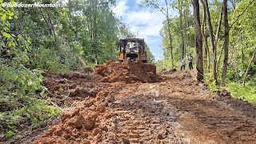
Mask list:
MULTIPOLYGON (((146 4, 166 14, 157 1, 146 4)), ((164 59, 157 62, 158 69, 179 69, 182 56, 193 54, 198 81, 256 102, 255 1, 166 1, 166 5, 178 15, 166 14, 161 30, 164 59)))

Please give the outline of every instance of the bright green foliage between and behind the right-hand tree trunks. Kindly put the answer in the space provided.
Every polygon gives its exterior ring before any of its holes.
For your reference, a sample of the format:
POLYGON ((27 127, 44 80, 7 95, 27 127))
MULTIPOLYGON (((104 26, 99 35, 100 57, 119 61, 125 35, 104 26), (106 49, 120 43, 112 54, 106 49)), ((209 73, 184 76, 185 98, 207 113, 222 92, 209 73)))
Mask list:
MULTIPOLYGON (((206 28, 204 29, 206 39, 207 39, 207 46, 209 47, 209 54, 210 54, 210 66, 209 70, 206 66, 208 58, 204 58, 204 82, 206 82, 210 88, 210 90, 218 90, 218 89, 227 89, 230 90, 231 95, 234 98, 242 98, 248 102, 255 102, 255 77, 256 77, 256 58, 252 62, 250 69, 248 71, 248 77, 246 79, 246 86, 242 86, 242 81, 244 75, 246 73, 246 68, 250 63, 250 58, 254 54, 255 51, 255 42, 256 42, 256 35, 255 35, 255 28, 256 28, 256 18, 255 18, 255 11, 256 11, 256 2, 252 2, 250 4, 250 0, 238 1, 229 5, 228 8, 228 21, 229 25, 231 26, 230 35, 229 35, 229 61, 228 61, 228 70, 226 75, 226 87, 218 86, 217 83, 214 82, 213 78, 213 58, 212 58, 212 50, 210 45, 210 36, 208 30, 208 23, 205 21, 206 28), (250 6, 249 6, 250 4, 250 6), (246 10, 247 8, 247 10, 246 10)), ((171 5, 176 10, 183 10, 182 14, 182 22, 184 26, 184 30, 186 30, 185 38, 186 38, 186 54, 194 55, 194 22, 193 22, 193 15, 190 10, 187 10, 187 6, 190 6, 190 2, 187 1, 178 1, 175 0, 171 3, 171 5), (185 4, 185 5, 183 5, 185 4), (183 9, 182 9, 183 8, 183 9), (185 11, 185 13, 184 13, 185 11), (192 40, 191 40, 192 39, 192 40)), ((209 3, 210 8, 210 17, 211 17, 211 24, 214 29, 214 34, 218 28, 218 20, 220 10, 222 9, 222 2, 214 1, 209 3)), ((201 15, 201 22, 203 22, 203 8, 202 5, 200 7, 200 15, 201 15)), ((180 12, 180 11, 179 11, 180 12)), ((201 23, 202 24, 202 23, 201 23)), ((170 26, 171 26, 171 34, 173 38, 173 48, 174 48, 174 62, 175 67, 180 65, 180 58, 181 58, 181 31, 180 30, 180 21, 177 16, 170 18, 170 26)), ((164 59, 157 62, 158 70, 170 70, 170 42, 168 39, 168 30, 167 30, 167 22, 163 23, 162 27, 162 46, 164 52, 164 59)), ((216 43, 217 48, 217 61, 218 61, 218 82, 220 82, 222 76, 222 63, 223 63, 223 42, 224 42, 224 26, 222 20, 222 26, 218 34, 218 42, 216 43)), ((205 46, 204 44, 203 54, 205 55, 205 46)))

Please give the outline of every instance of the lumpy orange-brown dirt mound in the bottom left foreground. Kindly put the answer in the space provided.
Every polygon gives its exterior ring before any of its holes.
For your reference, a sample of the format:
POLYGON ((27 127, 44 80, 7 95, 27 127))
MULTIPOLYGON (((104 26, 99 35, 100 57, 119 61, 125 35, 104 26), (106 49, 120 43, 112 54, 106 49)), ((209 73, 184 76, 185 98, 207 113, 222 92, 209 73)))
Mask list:
POLYGON ((62 114, 62 122, 53 126, 32 143, 90 143, 102 138, 111 114, 103 113, 106 108, 93 101, 62 114))

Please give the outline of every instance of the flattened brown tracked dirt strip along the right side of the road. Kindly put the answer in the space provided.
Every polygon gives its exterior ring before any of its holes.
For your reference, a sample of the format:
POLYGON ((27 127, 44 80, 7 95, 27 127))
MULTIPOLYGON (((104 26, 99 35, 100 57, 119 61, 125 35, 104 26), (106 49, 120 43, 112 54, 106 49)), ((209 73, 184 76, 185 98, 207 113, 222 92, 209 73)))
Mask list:
POLYGON ((163 82, 169 88, 161 87, 161 91, 168 102, 179 110, 180 129, 186 131, 192 143, 256 143, 256 123, 253 119, 215 100, 196 82, 187 86, 189 79, 173 81, 163 82))

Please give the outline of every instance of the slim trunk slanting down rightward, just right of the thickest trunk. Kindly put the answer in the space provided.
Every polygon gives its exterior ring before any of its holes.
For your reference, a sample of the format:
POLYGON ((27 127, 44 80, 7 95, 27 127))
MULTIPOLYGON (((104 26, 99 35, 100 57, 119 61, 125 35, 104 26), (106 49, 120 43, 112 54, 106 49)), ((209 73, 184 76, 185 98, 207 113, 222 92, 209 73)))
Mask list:
POLYGON ((216 47, 214 44, 214 33, 213 33, 213 27, 211 26, 211 21, 210 21, 210 11, 209 11, 209 7, 208 7, 208 2, 207 0, 204 0, 203 5, 206 7, 206 14, 207 14, 207 20, 208 20, 208 27, 209 27, 209 31, 210 31, 210 43, 212 46, 212 50, 213 50, 213 59, 214 59, 214 81, 216 84, 218 84, 218 80, 217 80, 217 71, 216 71, 216 63, 217 63, 217 59, 216 59, 216 47))

